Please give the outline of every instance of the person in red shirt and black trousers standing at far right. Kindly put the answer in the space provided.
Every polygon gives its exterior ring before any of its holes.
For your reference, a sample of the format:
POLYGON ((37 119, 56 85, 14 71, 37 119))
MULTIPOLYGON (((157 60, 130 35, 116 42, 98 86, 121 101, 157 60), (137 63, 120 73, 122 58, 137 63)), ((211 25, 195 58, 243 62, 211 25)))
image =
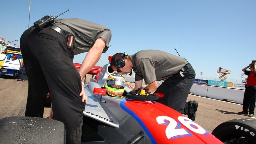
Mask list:
POLYGON ((250 63, 249 66, 242 69, 245 75, 247 75, 247 81, 245 83, 245 91, 244 91, 244 101, 243 101, 243 111, 238 112, 239 114, 248 114, 252 117, 254 115, 254 107, 256 100, 256 62, 250 63), (251 70, 246 70, 250 68, 251 70))

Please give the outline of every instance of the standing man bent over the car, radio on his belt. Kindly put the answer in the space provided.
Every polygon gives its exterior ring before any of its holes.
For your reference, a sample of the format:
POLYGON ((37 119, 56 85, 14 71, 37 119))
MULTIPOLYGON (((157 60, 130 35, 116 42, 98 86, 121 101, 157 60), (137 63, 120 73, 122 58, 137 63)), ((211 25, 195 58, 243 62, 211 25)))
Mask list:
POLYGON ((110 39, 107 27, 75 18, 54 20, 43 29, 28 28, 20 38, 28 76, 25 116, 43 117, 50 92, 53 117, 64 123, 67 143, 81 143, 87 103, 81 80, 108 50, 110 39), (74 54, 83 52, 88 53, 77 72, 74 54))

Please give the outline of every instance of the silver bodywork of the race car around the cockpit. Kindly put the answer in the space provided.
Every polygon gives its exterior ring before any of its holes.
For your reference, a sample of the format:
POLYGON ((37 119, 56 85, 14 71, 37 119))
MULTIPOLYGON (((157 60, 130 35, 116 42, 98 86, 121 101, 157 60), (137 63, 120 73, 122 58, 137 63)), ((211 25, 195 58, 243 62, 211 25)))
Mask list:
MULTIPOLYGON (((115 98, 108 95, 102 95, 100 102, 100 94, 94 94, 94 88, 103 88, 107 77, 111 74, 108 71, 110 64, 102 67, 98 76, 95 76, 91 82, 85 85, 85 92, 88 99, 88 104, 84 109, 84 116, 90 117, 94 120, 99 121, 98 134, 107 142, 111 144, 124 144, 131 140, 140 131, 144 131, 140 124, 127 112, 125 112, 120 102, 125 100, 125 97, 115 98)), ((125 91, 129 92, 127 86, 125 91)), ((151 140, 147 134, 144 133, 145 137, 140 140, 140 144, 149 144, 151 140)))

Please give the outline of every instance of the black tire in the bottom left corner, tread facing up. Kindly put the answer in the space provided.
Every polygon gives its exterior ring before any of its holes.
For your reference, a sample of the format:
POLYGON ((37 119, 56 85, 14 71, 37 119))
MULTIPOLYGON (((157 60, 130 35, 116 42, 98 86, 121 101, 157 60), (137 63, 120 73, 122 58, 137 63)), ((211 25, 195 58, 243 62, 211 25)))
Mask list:
POLYGON ((62 122, 28 116, 0 119, 0 143, 65 144, 66 130, 62 122))

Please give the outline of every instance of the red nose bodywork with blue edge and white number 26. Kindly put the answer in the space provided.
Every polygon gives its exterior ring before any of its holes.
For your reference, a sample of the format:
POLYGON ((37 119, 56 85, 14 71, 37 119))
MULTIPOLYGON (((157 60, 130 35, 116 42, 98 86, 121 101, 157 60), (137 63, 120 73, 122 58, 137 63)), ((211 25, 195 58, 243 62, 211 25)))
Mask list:
POLYGON ((158 102, 124 100, 120 106, 143 127, 152 143, 223 144, 186 116, 158 102))

